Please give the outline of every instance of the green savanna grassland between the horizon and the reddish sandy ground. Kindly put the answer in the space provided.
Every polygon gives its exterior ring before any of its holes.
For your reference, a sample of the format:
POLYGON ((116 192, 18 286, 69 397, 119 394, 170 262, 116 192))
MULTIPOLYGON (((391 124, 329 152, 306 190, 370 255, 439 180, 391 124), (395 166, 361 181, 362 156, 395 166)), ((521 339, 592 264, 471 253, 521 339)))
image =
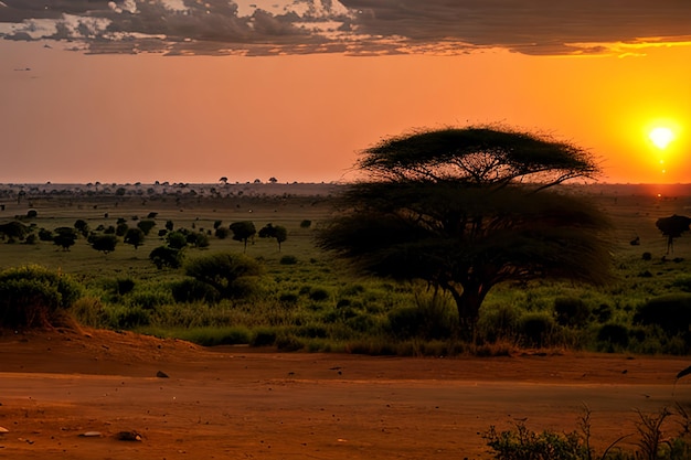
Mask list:
POLYGON ((315 229, 333 212, 331 197, 339 188, 2 185, 0 223, 19 221, 34 236, 6 236, 0 269, 40 265, 71 276, 81 298, 70 313, 85 327, 204 345, 397 355, 503 355, 517 349, 683 355, 691 349, 691 313, 685 313, 691 311, 691 235, 676 239, 673 253, 667 254, 667 239, 655 225, 659 217, 691 214, 691 188, 567 188, 588 195, 610 216, 616 282, 597 288, 552 281, 501 286, 486 299, 470 342, 458 339, 450 299, 422 284, 354 274, 316 247, 315 229), (66 249, 38 237, 77 221, 87 227, 66 249), (123 236, 107 254, 88 243, 89 234, 113 234, 118 225, 134 228, 142 221, 155 225, 138 247, 123 236), (285 227, 280 250, 275 238, 255 235, 245 248, 233 233, 220 237, 216 232, 245 221, 257 231, 269 223, 285 227), (167 244, 171 232, 203 237, 188 238, 181 267, 159 269, 149 255, 167 244), (243 293, 233 298, 189 295, 193 289, 185 267, 216 253, 244 253, 258 261, 261 274, 247 277, 243 293))

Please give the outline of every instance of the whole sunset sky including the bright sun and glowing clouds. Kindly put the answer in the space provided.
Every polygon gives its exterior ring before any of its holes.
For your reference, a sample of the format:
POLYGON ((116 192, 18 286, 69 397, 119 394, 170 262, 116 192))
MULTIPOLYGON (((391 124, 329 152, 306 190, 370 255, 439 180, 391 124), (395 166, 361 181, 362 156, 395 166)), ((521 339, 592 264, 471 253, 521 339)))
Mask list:
POLYGON ((691 176, 691 4, 662 1, 650 15, 586 1, 538 14, 515 2, 525 36, 511 21, 472 28, 498 14, 490 7, 447 21, 438 13, 454 7, 440 0, 382 1, 382 11, 355 0, 210 2, 199 17, 182 0, 111 3, 83 12, 91 34, 79 13, 0 6, 0 182, 348 181, 358 151, 383 137, 487 124, 584 147, 604 182, 691 176), (189 36, 163 33, 153 3, 194 20, 189 36), (113 32, 132 14, 141 30, 113 32), (204 39, 230 23, 257 36, 222 28, 204 39))

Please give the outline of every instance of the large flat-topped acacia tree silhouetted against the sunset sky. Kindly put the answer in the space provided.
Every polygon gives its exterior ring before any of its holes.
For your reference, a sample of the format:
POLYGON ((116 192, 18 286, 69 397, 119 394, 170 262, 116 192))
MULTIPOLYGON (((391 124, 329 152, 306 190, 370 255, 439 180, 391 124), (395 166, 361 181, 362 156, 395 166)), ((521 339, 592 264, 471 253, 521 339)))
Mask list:
POLYGON ((319 246, 361 271, 449 292, 461 324, 475 325, 503 281, 610 279, 604 214, 553 189, 597 173, 584 150, 470 127, 394 137, 362 153, 357 167, 370 180, 342 194, 319 246))

